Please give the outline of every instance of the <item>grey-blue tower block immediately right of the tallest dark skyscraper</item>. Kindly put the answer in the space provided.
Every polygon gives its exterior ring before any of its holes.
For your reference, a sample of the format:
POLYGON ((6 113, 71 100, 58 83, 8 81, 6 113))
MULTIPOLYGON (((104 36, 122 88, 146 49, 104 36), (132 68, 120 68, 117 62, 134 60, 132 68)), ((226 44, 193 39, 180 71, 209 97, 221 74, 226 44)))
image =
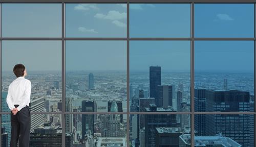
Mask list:
POLYGON ((173 86, 158 85, 155 98, 157 107, 173 106, 173 86))

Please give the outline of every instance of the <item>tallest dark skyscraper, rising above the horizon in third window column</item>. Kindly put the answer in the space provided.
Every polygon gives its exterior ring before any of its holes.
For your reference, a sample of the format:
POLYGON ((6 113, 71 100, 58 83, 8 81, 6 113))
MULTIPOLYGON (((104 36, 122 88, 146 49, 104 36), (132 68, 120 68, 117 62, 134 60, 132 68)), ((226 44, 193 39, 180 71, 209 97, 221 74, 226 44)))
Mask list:
POLYGON ((161 66, 150 66, 150 97, 156 98, 158 85, 161 85, 161 66))

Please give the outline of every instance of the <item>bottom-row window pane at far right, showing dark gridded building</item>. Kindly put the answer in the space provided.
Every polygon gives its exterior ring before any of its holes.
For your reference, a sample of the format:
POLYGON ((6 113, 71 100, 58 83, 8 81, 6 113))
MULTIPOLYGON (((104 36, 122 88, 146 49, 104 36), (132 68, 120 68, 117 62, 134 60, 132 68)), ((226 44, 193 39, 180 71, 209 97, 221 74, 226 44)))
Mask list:
MULTIPOLYGON (((254 116, 248 114, 195 115, 195 146, 254 146, 254 116), (210 143, 212 142, 212 143, 210 143)), ((190 144, 190 136, 180 137, 190 144)))

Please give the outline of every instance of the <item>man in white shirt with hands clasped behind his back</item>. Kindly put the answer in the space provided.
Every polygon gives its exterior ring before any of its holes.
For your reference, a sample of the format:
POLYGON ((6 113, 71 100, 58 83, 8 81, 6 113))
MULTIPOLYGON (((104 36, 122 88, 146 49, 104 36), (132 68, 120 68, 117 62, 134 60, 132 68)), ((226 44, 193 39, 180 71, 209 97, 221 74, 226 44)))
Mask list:
POLYGON ((30 94, 31 82, 25 79, 27 71, 23 64, 16 64, 13 72, 17 77, 9 85, 6 102, 11 110, 10 147, 28 147, 30 135, 30 94), (20 136, 19 136, 20 135, 20 136))

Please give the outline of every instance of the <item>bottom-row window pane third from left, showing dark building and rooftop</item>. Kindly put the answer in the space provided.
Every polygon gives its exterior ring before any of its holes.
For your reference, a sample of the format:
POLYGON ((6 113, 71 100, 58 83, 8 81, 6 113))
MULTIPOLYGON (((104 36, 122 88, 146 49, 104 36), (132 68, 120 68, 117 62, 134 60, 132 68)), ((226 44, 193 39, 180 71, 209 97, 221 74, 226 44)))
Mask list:
MULTIPOLYGON (((146 111, 153 112, 155 109, 156 106, 152 105, 146 111)), ((179 137, 182 134, 190 135, 189 114, 130 115, 132 146, 179 146, 179 137)))

